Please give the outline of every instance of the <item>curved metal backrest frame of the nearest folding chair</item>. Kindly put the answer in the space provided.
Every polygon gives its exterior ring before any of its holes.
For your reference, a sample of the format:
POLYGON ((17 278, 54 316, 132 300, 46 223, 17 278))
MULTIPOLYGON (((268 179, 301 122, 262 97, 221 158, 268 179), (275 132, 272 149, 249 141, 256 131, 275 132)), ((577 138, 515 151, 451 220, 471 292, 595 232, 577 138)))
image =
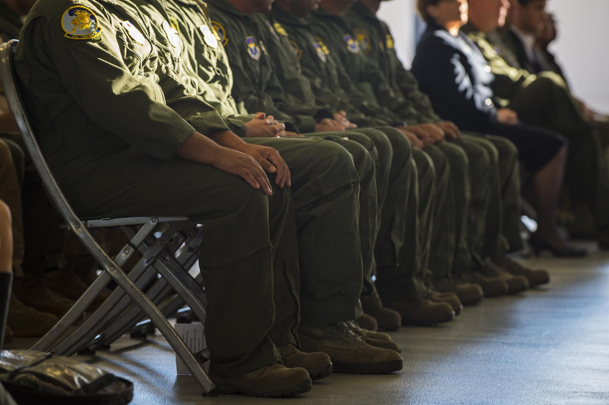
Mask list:
POLYGON ((42 179, 44 189, 49 195, 49 199, 51 199, 52 204, 60 215, 62 215, 71 230, 83 241, 87 249, 97 258, 97 261, 99 261, 100 264, 108 267, 113 265, 116 266, 111 258, 101 249, 99 244, 96 243, 94 238, 91 237, 82 221, 79 220, 74 210, 72 210, 72 207, 68 204, 68 200, 63 195, 62 190, 59 188, 57 181, 55 181, 55 178, 40 151, 40 146, 34 136, 29 119, 27 118, 27 112, 23 106, 21 94, 15 78, 13 57, 18 43, 18 40, 10 40, 7 43, 0 45, 0 80, 2 80, 2 87, 4 88, 4 95, 9 104, 10 112, 12 112, 13 118, 19 128, 19 133, 21 133, 24 143, 26 144, 27 152, 30 154, 32 162, 38 171, 38 175, 40 175, 40 178, 42 179))

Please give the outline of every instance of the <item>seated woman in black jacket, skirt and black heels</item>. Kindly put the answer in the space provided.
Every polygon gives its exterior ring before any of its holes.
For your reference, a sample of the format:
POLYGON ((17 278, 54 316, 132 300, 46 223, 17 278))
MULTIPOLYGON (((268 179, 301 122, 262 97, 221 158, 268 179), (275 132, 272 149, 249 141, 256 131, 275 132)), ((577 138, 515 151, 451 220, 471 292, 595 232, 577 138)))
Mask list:
POLYGON ((557 256, 583 256, 568 244, 556 222, 556 203, 563 182, 567 141, 554 131, 519 122, 509 108, 496 108, 494 80, 484 55, 459 29, 467 22, 466 0, 418 0, 428 29, 417 47, 412 72, 435 111, 467 131, 511 140, 524 167, 533 175, 538 230, 533 246, 557 256))

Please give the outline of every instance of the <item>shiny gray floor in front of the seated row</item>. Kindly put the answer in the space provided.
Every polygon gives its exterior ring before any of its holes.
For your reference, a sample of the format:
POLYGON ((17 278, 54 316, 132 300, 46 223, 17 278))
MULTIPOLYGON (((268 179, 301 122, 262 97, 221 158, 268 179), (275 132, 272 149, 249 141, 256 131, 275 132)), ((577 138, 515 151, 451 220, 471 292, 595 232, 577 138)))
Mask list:
POLYGON ((194 379, 175 375, 174 353, 161 336, 123 338, 90 361, 132 380, 134 405, 609 404, 609 253, 526 263, 551 271, 552 283, 486 299, 439 327, 403 327, 392 334, 402 347, 401 372, 333 374, 294 398, 202 398, 194 379))

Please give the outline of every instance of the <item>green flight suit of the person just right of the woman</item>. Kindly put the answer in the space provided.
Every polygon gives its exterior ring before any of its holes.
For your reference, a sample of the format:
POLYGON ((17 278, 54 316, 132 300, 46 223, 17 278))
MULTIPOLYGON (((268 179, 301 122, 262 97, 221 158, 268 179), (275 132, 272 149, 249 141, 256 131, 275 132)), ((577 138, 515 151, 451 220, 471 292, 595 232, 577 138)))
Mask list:
POLYGON ((495 74, 493 91, 509 100, 507 106, 518 112, 523 122, 550 128, 569 139, 565 183, 576 204, 590 206, 599 232, 609 229, 609 166, 600 144, 580 112, 565 80, 554 72, 531 75, 509 66, 488 42, 487 35, 473 24, 462 27, 484 54, 495 74))

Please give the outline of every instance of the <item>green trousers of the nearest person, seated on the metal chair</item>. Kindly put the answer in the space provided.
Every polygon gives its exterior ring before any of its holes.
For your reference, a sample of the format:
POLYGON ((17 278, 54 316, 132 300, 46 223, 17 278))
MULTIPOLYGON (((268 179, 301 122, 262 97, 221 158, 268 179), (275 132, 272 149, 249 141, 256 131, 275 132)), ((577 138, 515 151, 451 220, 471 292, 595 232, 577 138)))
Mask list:
POLYGON ((271 241, 290 220, 289 189, 271 181, 269 197, 210 166, 179 157, 160 161, 134 149, 98 165, 85 167, 79 181, 61 184, 80 216, 186 215, 206 224, 199 264, 214 372, 236 376, 278 361, 268 336, 278 257, 271 241))

